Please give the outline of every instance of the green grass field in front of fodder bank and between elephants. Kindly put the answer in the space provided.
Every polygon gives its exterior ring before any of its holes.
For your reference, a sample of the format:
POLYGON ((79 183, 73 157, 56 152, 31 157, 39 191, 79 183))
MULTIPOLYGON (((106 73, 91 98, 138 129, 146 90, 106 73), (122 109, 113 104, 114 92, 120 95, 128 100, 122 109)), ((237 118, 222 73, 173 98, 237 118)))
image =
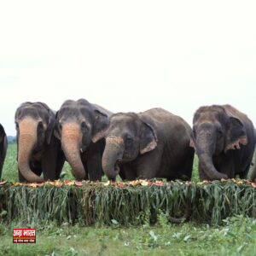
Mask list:
MULTIPOLYGON (((3 179, 17 180, 15 145, 9 145, 3 179)), ((193 179, 198 179, 197 159, 193 179)), ((64 178, 71 178, 66 164, 64 178)), ((22 203, 22 202, 20 202, 22 203)), ((1 214, 4 212, 0 212, 1 214)), ((121 227, 51 223, 38 226, 0 222, 0 255, 255 255, 256 220, 243 216, 225 219, 219 226, 169 224, 160 215, 157 224, 121 227), (36 228, 36 244, 13 244, 13 228, 36 228)))

